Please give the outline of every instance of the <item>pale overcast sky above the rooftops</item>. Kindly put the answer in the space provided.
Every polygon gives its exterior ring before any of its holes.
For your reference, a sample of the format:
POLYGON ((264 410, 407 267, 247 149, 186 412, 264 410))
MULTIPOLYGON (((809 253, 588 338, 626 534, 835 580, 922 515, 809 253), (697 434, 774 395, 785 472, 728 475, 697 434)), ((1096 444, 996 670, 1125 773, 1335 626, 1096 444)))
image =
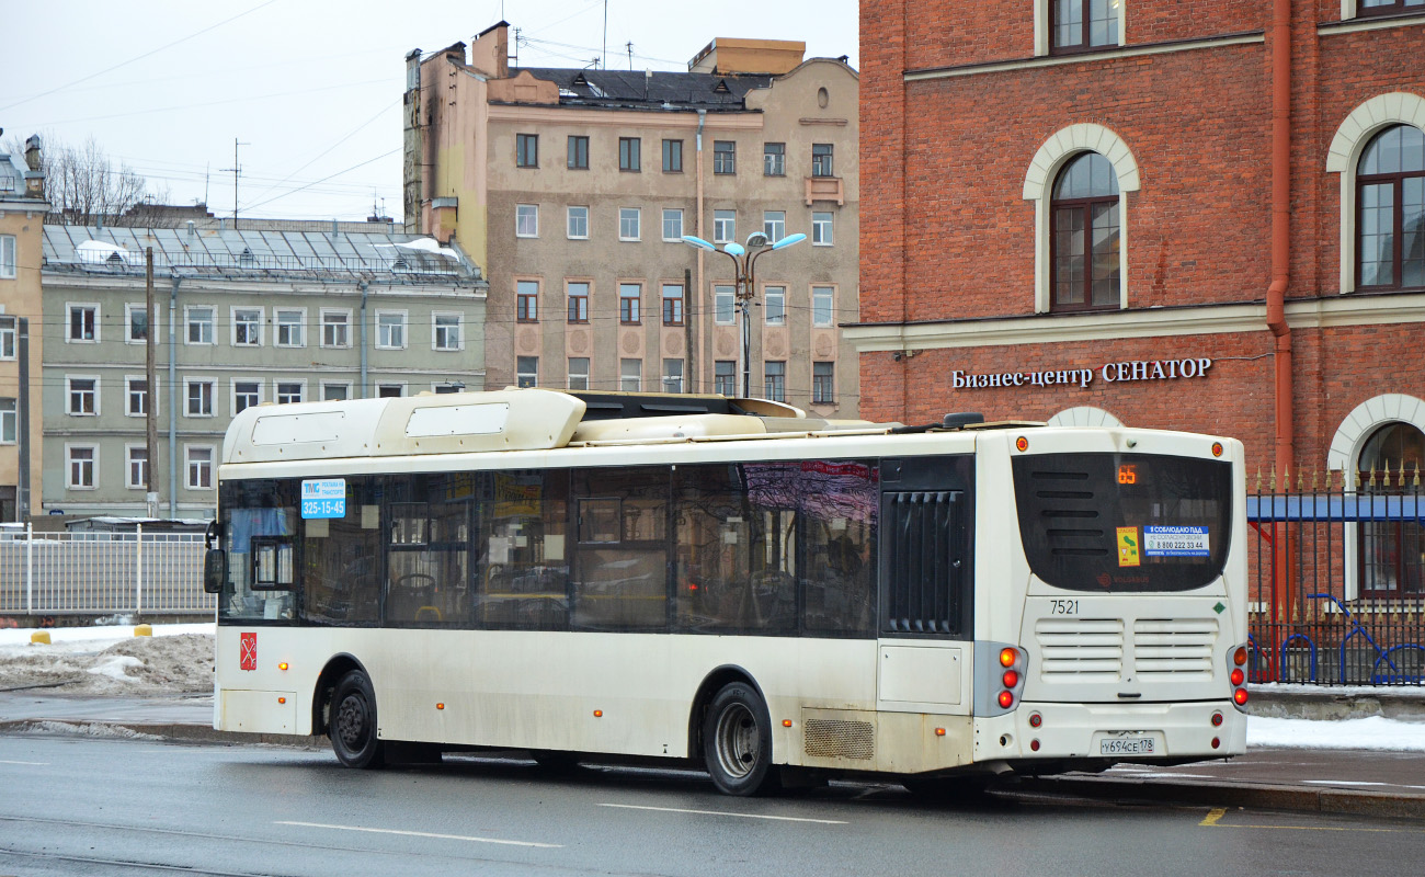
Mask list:
MULTIPOLYGON (((855 0, 607 1, 607 66, 687 70, 714 37, 802 40, 859 67, 855 0), (633 43, 630 61, 628 43, 633 43)), ((3 140, 94 137, 168 190, 232 215, 400 218, 405 54, 502 17, 519 63, 604 56, 604 0, 0 0, 3 140)))

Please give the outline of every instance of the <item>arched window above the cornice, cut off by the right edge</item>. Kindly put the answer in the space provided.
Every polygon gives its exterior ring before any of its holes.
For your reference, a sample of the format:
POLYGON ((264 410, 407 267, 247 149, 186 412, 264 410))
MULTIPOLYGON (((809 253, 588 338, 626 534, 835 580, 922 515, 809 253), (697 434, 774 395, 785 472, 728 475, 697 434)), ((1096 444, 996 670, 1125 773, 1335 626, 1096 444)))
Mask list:
POLYGON ((1392 125, 1357 167, 1357 288, 1425 287, 1425 133, 1392 125))

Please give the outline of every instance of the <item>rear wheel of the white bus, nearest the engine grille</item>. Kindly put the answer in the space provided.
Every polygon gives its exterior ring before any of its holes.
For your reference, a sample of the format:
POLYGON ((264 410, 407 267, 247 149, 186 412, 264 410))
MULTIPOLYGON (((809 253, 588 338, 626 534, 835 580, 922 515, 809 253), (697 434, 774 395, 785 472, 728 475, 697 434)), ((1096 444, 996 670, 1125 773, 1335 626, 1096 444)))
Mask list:
POLYGON ((703 720, 703 761, 712 784, 724 794, 774 791, 772 720, 767 703, 751 684, 722 686, 703 720))

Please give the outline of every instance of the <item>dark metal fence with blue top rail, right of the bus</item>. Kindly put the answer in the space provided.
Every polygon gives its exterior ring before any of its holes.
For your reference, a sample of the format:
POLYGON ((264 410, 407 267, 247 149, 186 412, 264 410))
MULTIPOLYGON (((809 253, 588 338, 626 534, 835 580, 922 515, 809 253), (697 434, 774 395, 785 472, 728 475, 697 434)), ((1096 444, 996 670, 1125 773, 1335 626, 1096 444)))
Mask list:
POLYGON ((1419 472, 1304 481, 1247 498, 1251 679, 1425 683, 1419 472))

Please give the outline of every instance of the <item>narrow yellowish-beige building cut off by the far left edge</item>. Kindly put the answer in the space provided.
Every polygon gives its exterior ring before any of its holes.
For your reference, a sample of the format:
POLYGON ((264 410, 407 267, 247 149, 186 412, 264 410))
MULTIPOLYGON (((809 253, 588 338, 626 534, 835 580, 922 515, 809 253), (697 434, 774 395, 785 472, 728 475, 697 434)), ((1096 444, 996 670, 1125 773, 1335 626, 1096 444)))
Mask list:
MULTIPOLYGON (((36 167, 37 144, 31 138, 36 167)), ((33 505, 30 498, 40 495, 44 344, 31 327, 40 324, 40 251, 48 210, 44 174, 19 155, 0 153, 0 523, 20 522, 33 505)))

